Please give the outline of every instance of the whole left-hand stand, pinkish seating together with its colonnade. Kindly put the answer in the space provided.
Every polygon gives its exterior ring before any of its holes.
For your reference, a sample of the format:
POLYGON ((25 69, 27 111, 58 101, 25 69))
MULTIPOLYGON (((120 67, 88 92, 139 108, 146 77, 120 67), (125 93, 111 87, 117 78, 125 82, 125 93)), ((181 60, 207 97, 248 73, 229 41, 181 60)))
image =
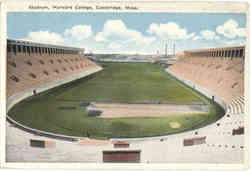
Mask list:
POLYGON ((83 49, 8 40, 7 96, 98 67, 83 49))

